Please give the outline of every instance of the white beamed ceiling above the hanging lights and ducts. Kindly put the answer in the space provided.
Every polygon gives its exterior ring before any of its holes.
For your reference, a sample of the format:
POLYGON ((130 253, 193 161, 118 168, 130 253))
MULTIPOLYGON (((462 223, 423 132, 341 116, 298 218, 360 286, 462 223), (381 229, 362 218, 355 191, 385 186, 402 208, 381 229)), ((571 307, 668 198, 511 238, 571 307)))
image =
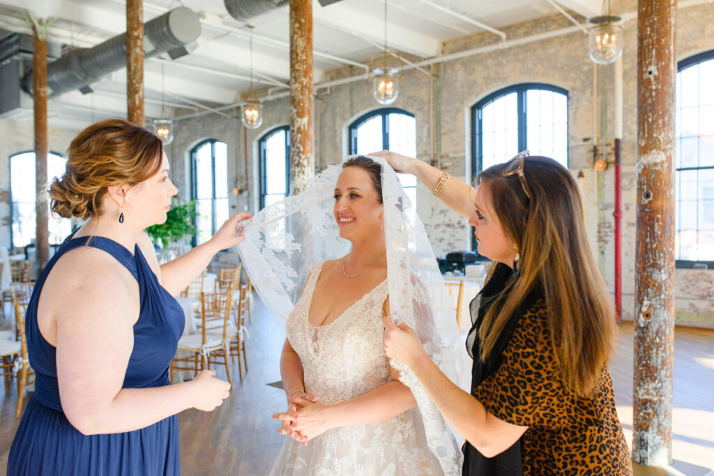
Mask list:
MULTIPOLYGON (((146 116, 161 116, 161 66, 164 101, 169 116, 174 108, 201 110, 201 105, 235 102, 250 87, 248 24, 233 19, 223 0, 145 0, 144 21, 177 6, 187 6, 201 18, 198 48, 171 61, 146 61, 144 83, 146 116), (199 106, 191 103, 197 102, 199 106)), ((600 0, 388 0, 387 42, 390 49, 420 59, 441 54, 443 43, 483 33, 484 27, 502 29, 523 21, 558 14, 555 5, 589 18, 600 13, 600 0), (483 25, 481 27, 479 25, 483 25)), ((0 29, 30 33, 23 16, 54 18, 49 41, 91 47, 126 31, 124 0, 0 0, 0 29)), ((271 92, 287 91, 289 79, 288 6, 281 6, 249 22, 253 36, 253 77, 256 86, 271 92)), ((384 42, 383 0, 341 0, 321 6, 313 0, 314 77, 353 64, 363 74, 384 42)), ((498 36, 494 34, 494 38, 498 36)), ((50 121, 83 127, 110 116, 126 116, 126 70, 114 72, 94 86, 94 93, 65 93, 50 105, 50 121)), ((31 108, 25 116, 31 119, 31 108)), ((22 114, 17 114, 22 118, 22 114)))

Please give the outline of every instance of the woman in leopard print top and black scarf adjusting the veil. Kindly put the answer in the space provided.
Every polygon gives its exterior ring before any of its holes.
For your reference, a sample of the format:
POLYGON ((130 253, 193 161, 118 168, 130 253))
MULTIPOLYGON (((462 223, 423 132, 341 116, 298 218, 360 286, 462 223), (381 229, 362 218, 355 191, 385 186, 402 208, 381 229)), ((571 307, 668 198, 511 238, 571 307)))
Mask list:
POLYGON ((466 437, 464 475, 631 475, 607 363, 615 316, 590 252, 573 176, 522 153, 478 174, 478 189, 383 151, 476 228, 493 266, 471 303, 471 394, 386 315, 385 349, 466 437), (475 210, 474 210, 475 208, 475 210))

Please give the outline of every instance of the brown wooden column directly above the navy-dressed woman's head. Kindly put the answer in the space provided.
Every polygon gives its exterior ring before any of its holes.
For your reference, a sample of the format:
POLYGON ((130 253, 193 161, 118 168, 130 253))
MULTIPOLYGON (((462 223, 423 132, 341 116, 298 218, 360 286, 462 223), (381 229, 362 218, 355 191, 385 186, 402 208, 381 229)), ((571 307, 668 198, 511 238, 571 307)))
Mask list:
POLYGON ((144 2, 126 1, 126 101, 129 122, 144 126, 144 2))

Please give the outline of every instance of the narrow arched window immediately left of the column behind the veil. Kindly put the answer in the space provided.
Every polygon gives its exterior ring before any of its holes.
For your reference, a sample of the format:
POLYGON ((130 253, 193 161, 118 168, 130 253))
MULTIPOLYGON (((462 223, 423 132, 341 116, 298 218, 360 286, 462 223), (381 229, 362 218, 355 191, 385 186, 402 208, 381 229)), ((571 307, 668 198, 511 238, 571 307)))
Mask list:
POLYGON ((282 126, 260 141, 261 208, 281 201, 290 191, 290 128, 282 126))

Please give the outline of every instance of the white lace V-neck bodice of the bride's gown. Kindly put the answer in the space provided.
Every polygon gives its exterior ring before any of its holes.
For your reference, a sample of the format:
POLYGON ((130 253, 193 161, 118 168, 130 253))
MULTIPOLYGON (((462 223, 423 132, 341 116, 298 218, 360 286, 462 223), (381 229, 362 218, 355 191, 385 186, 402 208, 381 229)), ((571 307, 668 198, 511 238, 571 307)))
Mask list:
POLYGON ((333 405, 389 380, 382 324, 388 288, 384 280, 331 323, 312 325, 308 315, 322 265, 313 267, 286 328, 288 340, 303 364, 306 392, 333 405))

